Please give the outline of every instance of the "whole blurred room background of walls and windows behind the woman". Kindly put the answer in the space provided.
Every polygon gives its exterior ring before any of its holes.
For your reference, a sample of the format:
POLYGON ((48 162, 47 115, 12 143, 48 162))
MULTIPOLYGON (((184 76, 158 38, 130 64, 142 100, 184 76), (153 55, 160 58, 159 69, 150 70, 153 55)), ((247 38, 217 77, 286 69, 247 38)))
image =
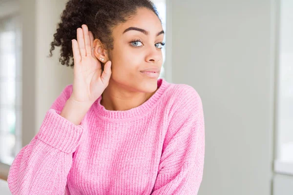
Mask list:
MULTIPOLYGON (((0 188, 73 69, 47 58, 67 0, 0 0, 0 188)), ((293 194, 293 0, 153 0, 160 77, 202 98, 199 195, 293 194)), ((3 194, 3 195, 5 195, 3 194)), ((2 195, 2 194, 1 194, 2 195)))

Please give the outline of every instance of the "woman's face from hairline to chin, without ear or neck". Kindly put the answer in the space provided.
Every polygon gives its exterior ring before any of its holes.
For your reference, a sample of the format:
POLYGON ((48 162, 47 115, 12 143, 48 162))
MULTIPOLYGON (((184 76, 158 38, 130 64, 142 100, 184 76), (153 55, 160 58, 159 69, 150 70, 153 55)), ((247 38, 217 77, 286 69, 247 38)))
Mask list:
POLYGON ((135 92, 154 92, 163 63, 164 31, 159 18, 151 10, 140 8, 127 22, 115 26, 112 36, 109 85, 118 84, 135 92))

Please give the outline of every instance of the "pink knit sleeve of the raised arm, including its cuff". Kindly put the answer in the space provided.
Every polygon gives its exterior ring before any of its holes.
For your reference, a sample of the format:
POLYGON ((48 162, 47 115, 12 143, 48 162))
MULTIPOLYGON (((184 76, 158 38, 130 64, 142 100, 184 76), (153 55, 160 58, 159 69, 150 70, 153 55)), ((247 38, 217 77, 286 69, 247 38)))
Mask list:
POLYGON ((67 85, 45 114, 39 132, 11 164, 7 178, 13 195, 64 195, 72 154, 82 140, 83 124, 60 115, 70 97, 67 85))

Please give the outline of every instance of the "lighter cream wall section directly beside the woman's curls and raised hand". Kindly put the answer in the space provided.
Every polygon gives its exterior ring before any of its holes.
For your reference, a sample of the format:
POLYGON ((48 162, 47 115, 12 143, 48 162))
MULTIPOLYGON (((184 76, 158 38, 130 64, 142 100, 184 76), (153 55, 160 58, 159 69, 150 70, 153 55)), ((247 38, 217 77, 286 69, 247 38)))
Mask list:
POLYGON ((73 69, 61 65, 60 47, 55 47, 52 58, 46 58, 53 34, 67 0, 37 0, 37 59, 36 59, 36 112, 37 131, 54 100, 67 84, 73 82, 73 69))

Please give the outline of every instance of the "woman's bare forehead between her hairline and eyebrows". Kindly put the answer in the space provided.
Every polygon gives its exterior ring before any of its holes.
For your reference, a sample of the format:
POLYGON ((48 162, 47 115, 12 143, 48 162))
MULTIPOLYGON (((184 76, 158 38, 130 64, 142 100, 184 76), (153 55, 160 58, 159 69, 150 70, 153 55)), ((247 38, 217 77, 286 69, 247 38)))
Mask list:
MULTIPOLYGON (((161 20, 151 10, 139 8, 135 15, 131 16, 125 23, 113 28, 113 34, 122 36, 124 30, 128 27, 138 27, 149 31, 150 36, 156 35, 163 30, 161 20)), ((127 33, 126 33, 127 34, 127 33)))

